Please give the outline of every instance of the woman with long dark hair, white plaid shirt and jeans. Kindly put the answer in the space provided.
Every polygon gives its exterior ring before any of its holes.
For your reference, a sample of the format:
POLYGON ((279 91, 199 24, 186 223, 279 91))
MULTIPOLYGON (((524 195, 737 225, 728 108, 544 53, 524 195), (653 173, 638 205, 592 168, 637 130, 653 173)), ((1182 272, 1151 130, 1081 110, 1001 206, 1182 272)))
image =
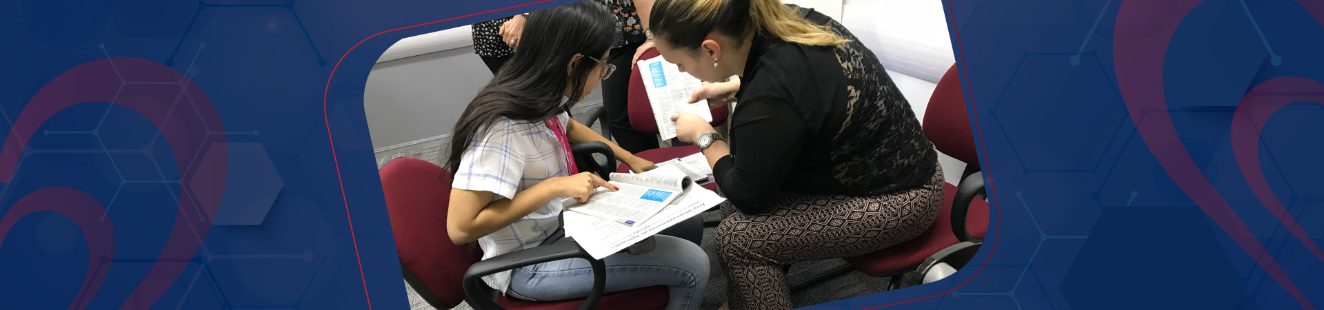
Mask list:
MULTIPOLYGON (((519 49, 483 87, 455 125, 446 168, 454 172, 446 231, 455 244, 478 241, 483 258, 556 242, 561 197, 585 201, 597 187, 614 189, 589 172, 576 172, 569 144, 598 140, 636 172, 654 168, 569 119, 567 111, 614 68, 602 60, 616 42, 616 19, 584 1, 534 12, 519 49)), ((698 309, 708 281, 699 248, 702 219, 657 236, 645 254, 617 253, 606 265, 606 291, 669 286, 667 309, 698 309), (688 240, 687 240, 688 238, 688 240)), ((487 285, 522 299, 585 297, 593 273, 585 260, 561 260, 485 277, 487 285)))

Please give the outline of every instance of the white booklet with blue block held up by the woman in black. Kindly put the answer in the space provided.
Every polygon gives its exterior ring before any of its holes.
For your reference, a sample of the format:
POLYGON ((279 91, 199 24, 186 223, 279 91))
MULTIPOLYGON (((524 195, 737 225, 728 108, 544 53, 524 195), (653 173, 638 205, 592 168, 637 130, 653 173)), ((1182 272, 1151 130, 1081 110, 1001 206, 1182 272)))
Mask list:
POLYGON ((662 57, 639 60, 639 70, 643 72, 643 90, 649 95, 653 106, 653 118, 658 122, 658 134, 662 139, 675 138, 675 122, 671 115, 681 113, 694 113, 703 121, 712 122, 712 113, 708 110, 708 101, 700 99, 690 102, 690 95, 703 86, 703 82, 682 73, 675 64, 666 62, 662 57))

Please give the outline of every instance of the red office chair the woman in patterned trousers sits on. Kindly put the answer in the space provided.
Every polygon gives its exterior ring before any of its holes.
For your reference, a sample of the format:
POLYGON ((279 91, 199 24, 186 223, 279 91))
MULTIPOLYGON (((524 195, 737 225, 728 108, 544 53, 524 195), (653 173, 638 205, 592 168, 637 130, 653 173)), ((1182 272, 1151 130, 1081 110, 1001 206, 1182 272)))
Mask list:
POLYGON ((960 184, 945 184, 943 209, 933 225, 910 241, 846 258, 847 266, 822 273, 793 289, 834 278, 853 269, 874 277, 891 277, 891 289, 899 289, 920 284, 940 264, 960 269, 978 252, 988 232, 989 208, 988 201, 977 199, 984 192, 984 179, 973 175, 980 171, 978 156, 955 65, 939 79, 929 98, 924 113, 924 134, 939 151, 967 163, 960 184), (915 277, 906 277, 907 274, 915 277))

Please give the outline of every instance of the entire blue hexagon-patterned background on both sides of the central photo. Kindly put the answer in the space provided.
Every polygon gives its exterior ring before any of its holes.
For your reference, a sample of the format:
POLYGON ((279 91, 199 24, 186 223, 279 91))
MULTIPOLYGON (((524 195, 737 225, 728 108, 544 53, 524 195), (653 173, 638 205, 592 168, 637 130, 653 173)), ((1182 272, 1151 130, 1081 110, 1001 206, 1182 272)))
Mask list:
MULTIPOLYGON (((34 94, 83 64, 142 58, 187 77, 142 81, 117 66, 97 79, 119 83, 114 99, 74 105, 40 122, 30 139, 5 142, 24 148, 13 179, 0 185, 0 223, 12 221, 0 232, 0 301, 7 309, 368 309, 371 299, 404 309, 363 110, 368 70, 399 38, 511 11, 384 30, 526 3, 0 4, 5 136, 34 94), (169 122, 197 123, 199 150, 176 158, 177 146, 148 117, 117 103, 142 94, 167 94, 158 109, 184 115, 169 122), (221 123, 208 121, 213 111, 221 123), (216 160, 207 158, 220 155, 221 166, 209 167, 216 160), (224 192, 199 191, 207 184, 189 179, 209 168, 225 172, 224 192), (56 187, 86 193, 103 211, 5 215, 56 187), (214 215, 201 208, 208 203, 220 204, 214 215), (200 242, 195 253, 162 260, 181 215, 179 223, 209 228, 185 236, 200 242), (93 241, 78 224, 106 221, 114 233, 93 241), (105 238, 113 256, 90 258, 105 238), (150 272, 162 264, 181 270, 150 272), (103 282, 79 295, 89 273, 103 282), (167 287, 159 298, 135 295, 150 282, 167 287)), ((1324 81, 1324 30, 1294 0, 1196 3, 1176 16, 1168 1, 944 0, 990 185, 992 236, 947 280, 806 309, 1313 309, 1324 262, 1250 191, 1229 132, 1255 85, 1324 81), (1119 20, 1123 5, 1141 4, 1153 5, 1152 19, 1119 20), (1166 109, 1128 110, 1113 49, 1145 33, 1115 29, 1170 19, 1180 25, 1161 68, 1166 109), (1147 143, 1136 125, 1151 118, 1170 118, 1180 138, 1147 143), (1262 254, 1247 253, 1197 207, 1156 159, 1156 143, 1189 152, 1262 254), (1304 302, 1258 262, 1266 258, 1304 302)), ((1320 119, 1319 102, 1288 105, 1262 129, 1256 150, 1275 197, 1315 242, 1324 236, 1320 119)))

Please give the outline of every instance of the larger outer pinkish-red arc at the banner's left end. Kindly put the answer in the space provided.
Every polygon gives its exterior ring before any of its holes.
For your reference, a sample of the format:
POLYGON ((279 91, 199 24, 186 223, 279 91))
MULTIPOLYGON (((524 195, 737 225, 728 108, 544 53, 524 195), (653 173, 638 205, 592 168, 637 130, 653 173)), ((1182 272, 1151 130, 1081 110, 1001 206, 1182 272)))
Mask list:
MULTIPOLYGON (((180 197, 184 197, 185 188, 192 189, 195 195, 201 195, 199 204, 203 212, 207 213, 205 216, 208 219, 216 216, 226 176, 225 164, 228 164, 228 154, 224 151, 224 146, 213 146, 212 150, 221 150, 214 156, 199 158, 199 160, 205 160, 207 164, 199 162, 193 166, 196 167, 193 171, 188 171, 188 166, 191 164, 191 159, 193 159, 191 155, 196 155, 192 152, 200 150, 208 140, 208 125, 212 125, 216 131, 224 131, 220 115, 201 87, 183 73, 142 58, 115 57, 89 61, 61 73, 42 86, 28 105, 24 106, 23 111, 19 113, 4 142, 4 148, 0 150, 0 181, 13 181, 15 172, 19 168, 19 159, 23 150, 26 148, 25 142, 37 132, 37 129, 42 123, 57 113, 85 102, 111 102, 134 110, 151 121, 162 132, 162 136, 166 138, 166 142, 169 143, 180 179, 188 180, 187 187, 180 188, 180 197), (192 94, 189 98, 193 105, 189 106, 197 109, 197 113, 185 113, 183 109, 179 109, 184 106, 179 101, 185 99, 180 98, 180 93, 173 93, 172 90, 163 93, 163 90, 155 87, 126 86, 123 83, 126 79, 179 81, 179 91, 192 94), (117 98, 120 90, 124 94, 117 98), (195 115, 200 115, 200 118, 195 115)), ((225 136, 218 135, 216 142, 225 142, 225 136)), ((147 273, 163 276, 138 282, 132 293, 130 293, 128 299, 155 302, 169 289, 171 284, 187 265, 173 262, 173 260, 191 258, 201 245, 199 236, 207 234, 211 223, 204 224, 204 227, 195 227, 192 219, 196 217, 189 216, 181 205, 183 201, 180 201, 180 205, 176 205, 179 208, 175 213, 175 224, 169 237, 167 237, 158 261, 152 264, 147 273)), ((97 216, 101 217, 101 213, 97 216)), ((89 240, 89 242, 113 242, 101 240, 103 237, 109 236, 98 236, 98 240, 89 240)), ((123 303, 120 307, 128 307, 128 303, 123 303)))

